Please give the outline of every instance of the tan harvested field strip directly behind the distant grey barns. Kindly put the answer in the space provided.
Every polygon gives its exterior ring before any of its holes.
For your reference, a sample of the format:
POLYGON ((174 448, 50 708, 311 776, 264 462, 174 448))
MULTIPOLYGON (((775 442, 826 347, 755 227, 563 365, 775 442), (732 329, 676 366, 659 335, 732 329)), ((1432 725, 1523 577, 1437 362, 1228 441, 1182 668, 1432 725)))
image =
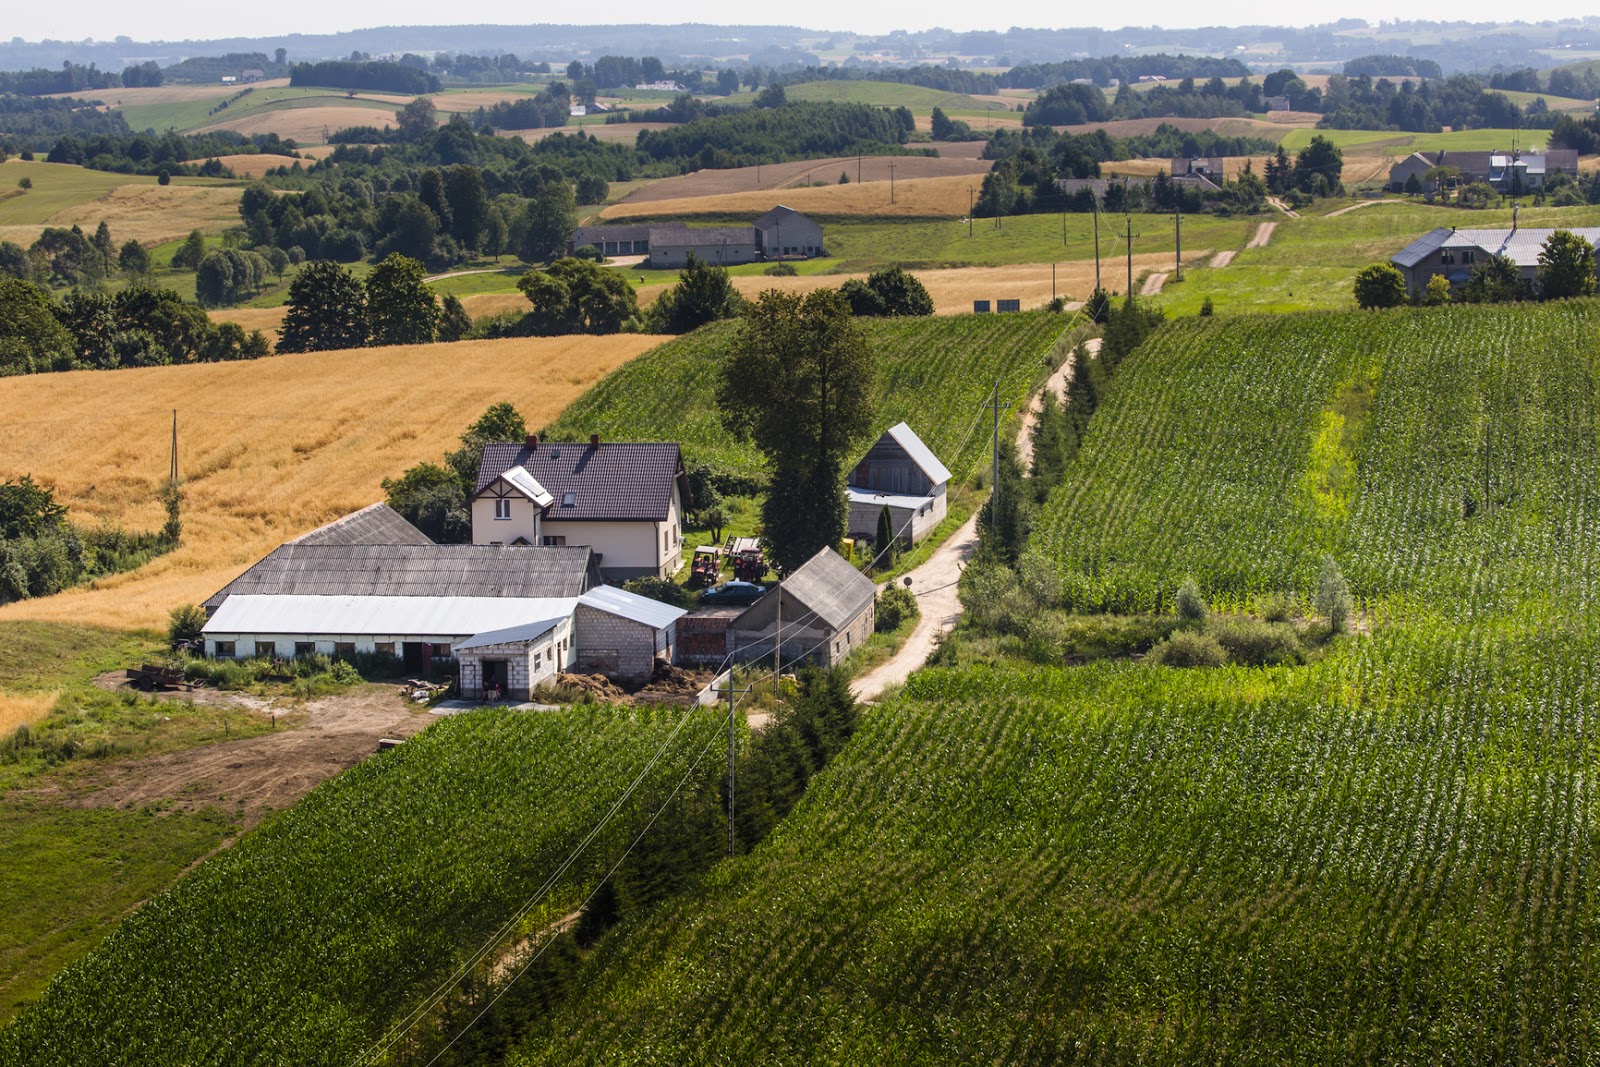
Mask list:
MULTIPOLYGON (((987 163, 986 163, 987 166, 987 163)), ((811 186, 805 189, 763 189, 733 192, 720 197, 685 197, 680 200, 626 200, 600 211, 605 219, 680 218, 693 214, 757 216, 782 203, 810 214, 862 214, 874 218, 966 218, 968 189, 976 176, 912 178, 894 181, 894 203, 890 203, 886 181, 850 182, 848 186, 811 186)))

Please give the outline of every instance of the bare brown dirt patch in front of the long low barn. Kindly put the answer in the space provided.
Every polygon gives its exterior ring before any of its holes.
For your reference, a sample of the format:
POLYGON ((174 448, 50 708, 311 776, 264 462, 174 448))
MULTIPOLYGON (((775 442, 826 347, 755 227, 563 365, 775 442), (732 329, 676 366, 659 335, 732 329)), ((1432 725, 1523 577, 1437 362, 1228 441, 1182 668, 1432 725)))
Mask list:
MULTIPOLYGON (((229 702, 272 713, 251 702, 261 697, 200 689, 197 702, 229 702)), ((174 697, 178 699, 178 697, 174 697)), ((277 713, 288 705, 275 709, 277 713)), ((234 809, 246 827, 269 811, 291 806, 339 771, 376 752, 379 737, 410 737, 432 721, 426 710, 408 707, 394 686, 363 685, 339 696, 306 704, 288 717, 291 726, 240 741, 219 741, 142 760, 99 763, 62 776, 27 795, 69 808, 142 808, 165 803, 181 811, 234 809), (298 725, 296 725, 298 723, 298 725)))

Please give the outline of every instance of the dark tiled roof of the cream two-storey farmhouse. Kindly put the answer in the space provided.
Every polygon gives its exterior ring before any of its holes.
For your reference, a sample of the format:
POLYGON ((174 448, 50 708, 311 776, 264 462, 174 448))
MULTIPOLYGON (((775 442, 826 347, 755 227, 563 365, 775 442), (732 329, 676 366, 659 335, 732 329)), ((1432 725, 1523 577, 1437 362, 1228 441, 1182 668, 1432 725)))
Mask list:
POLYGON ((675 442, 539 442, 538 448, 493 442, 483 446, 478 491, 517 466, 555 498, 544 522, 666 522, 683 470, 675 442))

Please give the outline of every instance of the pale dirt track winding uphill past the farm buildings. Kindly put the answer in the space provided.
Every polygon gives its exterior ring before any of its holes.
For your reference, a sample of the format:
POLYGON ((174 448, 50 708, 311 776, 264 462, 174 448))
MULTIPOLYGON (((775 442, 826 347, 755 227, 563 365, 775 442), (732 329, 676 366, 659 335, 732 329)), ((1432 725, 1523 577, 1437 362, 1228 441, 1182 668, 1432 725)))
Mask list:
MULTIPOLYGON (((1099 352, 1099 338, 1093 338, 1083 344, 1090 352, 1099 352)), ((1061 362, 1056 373, 1050 376, 1050 381, 1045 382, 1045 389, 1029 403, 1027 413, 1022 416, 1022 426, 1016 432, 1018 458, 1024 467, 1034 456, 1034 424, 1038 422, 1045 390, 1064 397, 1070 378, 1072 357, 1069 355, 1061 362)), ((973 515, 960 530, 950 534, 949 541, 928 557, 926 563, 910 571, 910 590, 917 593, 917 606, 922 608, 922 617, 917 619, 917 629, 910 632, 910 637, 906 638, 898 653, 850 685, 858 701, 875 701, 890 686, 904 683, 914 670, 928 662, 928 656, 933 654, 939 638, 955 629, 955 622, 962 617, 962 598, 958 595, 962 568, 976 549, 978 517, 973 515)))

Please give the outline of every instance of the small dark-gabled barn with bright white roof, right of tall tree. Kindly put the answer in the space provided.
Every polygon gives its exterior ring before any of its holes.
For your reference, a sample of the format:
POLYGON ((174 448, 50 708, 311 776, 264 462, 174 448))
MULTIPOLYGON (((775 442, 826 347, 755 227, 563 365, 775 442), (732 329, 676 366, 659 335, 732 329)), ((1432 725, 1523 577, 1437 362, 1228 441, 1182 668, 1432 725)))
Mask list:
POLYGON ((944 518, 949 482, 950 472, 907 424, 891 426, 850 474, 850 536, 872 541, 886 507, 896 539, 910 547, 944 518))

